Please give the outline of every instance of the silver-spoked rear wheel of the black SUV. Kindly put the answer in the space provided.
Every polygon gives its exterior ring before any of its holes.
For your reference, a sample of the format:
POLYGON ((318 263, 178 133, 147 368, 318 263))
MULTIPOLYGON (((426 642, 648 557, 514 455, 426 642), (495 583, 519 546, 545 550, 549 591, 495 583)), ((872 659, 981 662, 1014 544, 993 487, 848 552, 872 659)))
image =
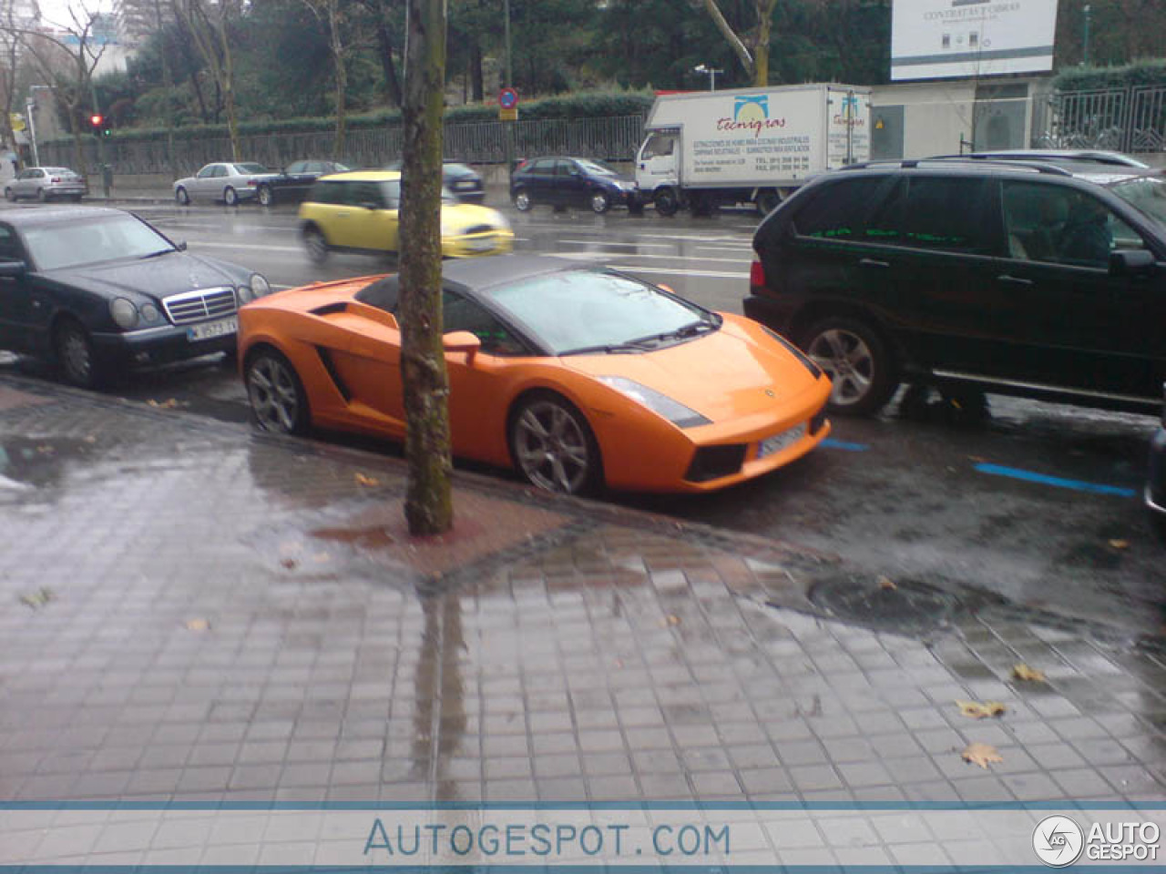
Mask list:
POLYGON ((819 322, 802 337, 802 348, 830 376, 828 407, 862 416, 878 410, 899 387, 894 360, 878 331, 857 319, 819 322))

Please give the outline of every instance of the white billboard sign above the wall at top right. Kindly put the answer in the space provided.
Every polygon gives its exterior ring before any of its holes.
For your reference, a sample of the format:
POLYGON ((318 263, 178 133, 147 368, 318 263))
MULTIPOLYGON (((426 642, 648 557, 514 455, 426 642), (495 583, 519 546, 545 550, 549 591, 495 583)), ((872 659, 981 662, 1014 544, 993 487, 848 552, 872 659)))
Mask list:
POLYGON ((891 78, 1053 69, 1056 0, 894 0, 891 78))

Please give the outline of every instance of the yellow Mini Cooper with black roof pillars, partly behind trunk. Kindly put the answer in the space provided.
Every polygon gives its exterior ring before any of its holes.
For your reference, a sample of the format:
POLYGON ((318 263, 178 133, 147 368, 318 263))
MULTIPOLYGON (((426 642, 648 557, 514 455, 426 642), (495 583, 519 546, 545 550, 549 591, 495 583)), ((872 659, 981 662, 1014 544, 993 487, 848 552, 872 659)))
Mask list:
MULTIPOLYGON (((358 170, 321 177, 300 205, 300 237, 316 263, 329 252, 396 253, 400 249, 401 174, 358 170)), ((499 255, 514 232, 497 210, 458 203, 442 191, 441 251, 445 258, 499 255)))

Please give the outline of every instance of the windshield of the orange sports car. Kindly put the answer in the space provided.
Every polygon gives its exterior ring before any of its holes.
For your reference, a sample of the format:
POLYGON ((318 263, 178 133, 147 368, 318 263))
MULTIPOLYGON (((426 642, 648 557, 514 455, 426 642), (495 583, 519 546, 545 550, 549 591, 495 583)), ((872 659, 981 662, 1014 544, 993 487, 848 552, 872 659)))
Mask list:
POLYGON ((561 270, 490 289, 552 354, 620 346, 710 319, 695 304, 603 270, 561 270))

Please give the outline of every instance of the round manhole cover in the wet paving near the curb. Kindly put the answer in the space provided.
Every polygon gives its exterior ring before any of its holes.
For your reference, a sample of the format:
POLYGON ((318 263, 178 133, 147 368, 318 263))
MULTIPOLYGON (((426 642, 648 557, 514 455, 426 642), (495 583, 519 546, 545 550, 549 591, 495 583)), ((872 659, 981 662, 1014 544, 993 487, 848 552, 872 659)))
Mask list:
POLYGON ((954 594, 914 580, 893 585, 851 577, 815 585, 809 599, 830 615, 880 632, 919 634, 947 625, 960 606, 954 594))

